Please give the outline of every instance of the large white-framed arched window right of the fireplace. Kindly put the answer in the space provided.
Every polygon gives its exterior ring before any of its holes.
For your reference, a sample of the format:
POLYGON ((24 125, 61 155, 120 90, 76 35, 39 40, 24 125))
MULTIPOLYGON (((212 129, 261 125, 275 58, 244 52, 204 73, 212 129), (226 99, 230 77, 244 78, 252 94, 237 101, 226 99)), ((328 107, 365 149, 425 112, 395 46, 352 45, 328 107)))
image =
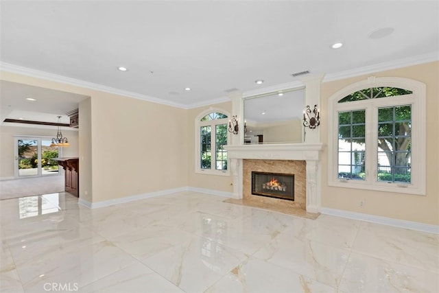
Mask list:
POLYGON ((369 78, 329 99, 329 185, 425 194, 425 84, 369 78))

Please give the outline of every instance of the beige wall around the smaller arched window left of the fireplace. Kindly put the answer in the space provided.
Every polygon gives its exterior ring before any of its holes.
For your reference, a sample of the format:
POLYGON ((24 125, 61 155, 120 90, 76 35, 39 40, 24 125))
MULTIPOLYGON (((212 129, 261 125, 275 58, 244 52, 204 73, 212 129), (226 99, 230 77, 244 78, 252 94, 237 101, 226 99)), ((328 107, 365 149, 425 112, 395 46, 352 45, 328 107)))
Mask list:
MULTIPOLYGON (((188 169, 189 174, 189 186, 203 189, 213 189, 217 191, 232 192, 233 191, 233 179, 232 176, 221 176, 221 175, 207 175, 195 173, 195 117, 200 115, 204 110, 208 108, 221 108, 229 113, 232 110, 232 102, 214 104, 211 106, 205 106, 200 108, 193 108, 187 110, 187 130, 188 130, 188 145, 189 151, 187 152, 188 157, 188 169)), ((241 132, 239 132, 241 133, 241 132)))

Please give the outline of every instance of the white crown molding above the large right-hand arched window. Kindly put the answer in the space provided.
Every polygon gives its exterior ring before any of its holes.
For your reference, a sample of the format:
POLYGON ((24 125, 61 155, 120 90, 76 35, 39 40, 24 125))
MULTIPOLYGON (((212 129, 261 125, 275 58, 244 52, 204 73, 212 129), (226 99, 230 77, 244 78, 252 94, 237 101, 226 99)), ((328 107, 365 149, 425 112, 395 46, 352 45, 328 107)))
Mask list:
POLYGON ((327 75, 324 76, 322 82, 333 82, 335 80, 344 80, 345 78, 353 78, 358 75, 377 73, 380 71, 398 69, 402 67, 419 65, 419 64, 434 62, 438 60, 439 60, 439 53, 437 51, 433 51, 427 54, 412 56, 399 60, 381 62, 374 65, 368 65, 365 67, 359 67, 359 68, 349 69, 335 73, 328 73, 327 75))

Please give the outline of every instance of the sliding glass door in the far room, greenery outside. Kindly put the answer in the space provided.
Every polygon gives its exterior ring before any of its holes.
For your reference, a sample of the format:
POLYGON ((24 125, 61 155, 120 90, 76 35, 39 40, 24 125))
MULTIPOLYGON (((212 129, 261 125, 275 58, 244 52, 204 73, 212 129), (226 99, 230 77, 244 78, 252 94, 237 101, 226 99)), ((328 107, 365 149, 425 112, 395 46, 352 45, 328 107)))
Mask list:
POLYGON ((42 137, 15 138, 15 176, 47 176, 60 173, 58 147, 51 147, 51 140, 42 137))

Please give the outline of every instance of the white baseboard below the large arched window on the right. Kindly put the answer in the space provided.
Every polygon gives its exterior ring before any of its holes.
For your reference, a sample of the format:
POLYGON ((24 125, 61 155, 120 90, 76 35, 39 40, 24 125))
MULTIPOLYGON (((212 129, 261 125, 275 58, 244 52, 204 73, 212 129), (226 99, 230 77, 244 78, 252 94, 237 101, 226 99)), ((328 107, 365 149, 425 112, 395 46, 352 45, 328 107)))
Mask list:
POLYGON ((406 220, 398 220, 393 218, 381 217, 379 215, 368 215, 366 213, 354 213, 352 211, 343 211, 340 209, 322 208, 320 213, 325 215, 336 215, 337 217, 348 218, 353 220, 361 220, 376 224, 395 226, 399 228, 407 228, 427 233, 439 234, 439 226, 431 224, 423 224, 406 220))

